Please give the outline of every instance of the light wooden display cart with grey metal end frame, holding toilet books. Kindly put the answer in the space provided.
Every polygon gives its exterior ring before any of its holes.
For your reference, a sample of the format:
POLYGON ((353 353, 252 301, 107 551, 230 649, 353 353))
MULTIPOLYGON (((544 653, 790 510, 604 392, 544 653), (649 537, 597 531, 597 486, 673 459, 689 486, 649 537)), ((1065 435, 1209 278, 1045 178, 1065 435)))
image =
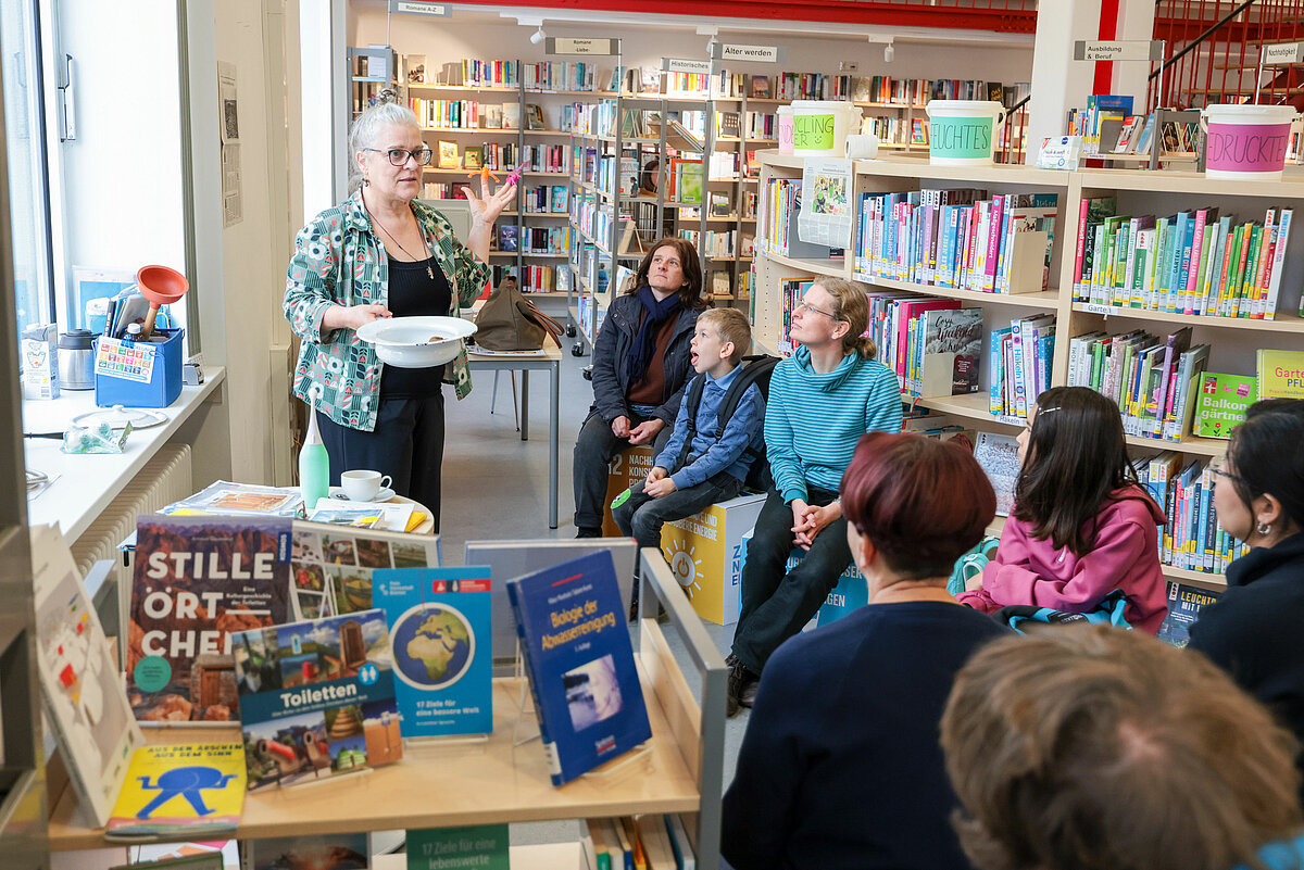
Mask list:
MULTIPOLYGON (((529 692, 515 677, 494 681, 494 731, 485 742, 409 746, 400 762, 308 788, 248 794, 236 839, 540 822, 638 813, 681 813, 696 834, 698 866, 720 854, 725 663, 665 560, 643 551, 643 602, 660 600, 698 669, 694 697, 656 620, 634 632, 635 660, 652 725, 638 755, 617 758, 561 788, 552 784, 529 692), (707 711, 703 714, 703 711, 707 711)), ((147 732, 155 742, 230 741, 231 728, 147 732)), ((86 827, 70 788, 51 793, 50 849, 103 849, 102 828, 86 827)), ((185 840, 185 836, 177 836, 185 840)))

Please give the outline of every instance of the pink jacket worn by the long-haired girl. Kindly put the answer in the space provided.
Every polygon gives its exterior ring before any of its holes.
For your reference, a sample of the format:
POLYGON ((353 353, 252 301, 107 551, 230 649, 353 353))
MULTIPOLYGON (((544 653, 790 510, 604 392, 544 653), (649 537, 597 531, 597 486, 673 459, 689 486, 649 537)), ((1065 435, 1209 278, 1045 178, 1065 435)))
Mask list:
POLYGON ((1067 547, 1056 550, 1050 540, 1033 538, 1028 524, 1011 517, 996 557, 983 569, 982 587, 956 598, 986 613, 1005 604, 1077 613, 1121 589, 1128 624, 1155 634, 1168 612, 1158 548, 1163 521, 1145 490, 1116 490, 1097 517, 1094 546, 1085 556, 1074 556, 1067 547))

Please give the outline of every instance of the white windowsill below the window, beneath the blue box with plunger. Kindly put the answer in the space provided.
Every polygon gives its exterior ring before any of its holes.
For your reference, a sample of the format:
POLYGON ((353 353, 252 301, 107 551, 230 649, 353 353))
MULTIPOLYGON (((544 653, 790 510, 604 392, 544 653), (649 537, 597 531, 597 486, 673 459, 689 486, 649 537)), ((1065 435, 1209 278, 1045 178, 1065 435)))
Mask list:
MULTIPOLYGON (((123 453, 69 455, 60 451, 63 442, 59 439, 23 439, 26 466, 57 475, 53 483, 27 501, 27 524, 57 524, 69 543, 77 540, 159 447, 216 391, 226 375, 227 370, 220 366, 205 366, 202 384, 183 387, 181 395, 167 408, 150 409, 166 415, 168 422, 134 430, 123 453)), ((94 389, 65 389, 53 401, 23 401, 23 428, 29 432, 61 432, 74 417, 91 410, 96 410, 94 389)))

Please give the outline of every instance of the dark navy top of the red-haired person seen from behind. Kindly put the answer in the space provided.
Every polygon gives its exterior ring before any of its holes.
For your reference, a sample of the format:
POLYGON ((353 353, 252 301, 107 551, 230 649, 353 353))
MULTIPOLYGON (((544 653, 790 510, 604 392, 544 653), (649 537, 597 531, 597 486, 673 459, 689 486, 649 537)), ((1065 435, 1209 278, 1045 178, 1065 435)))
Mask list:
POLYGON ((724 800, 737 870, 969 870, 938 745, 956 671, 1009 634, 944 602, 868 604, 765 664, 724 800))

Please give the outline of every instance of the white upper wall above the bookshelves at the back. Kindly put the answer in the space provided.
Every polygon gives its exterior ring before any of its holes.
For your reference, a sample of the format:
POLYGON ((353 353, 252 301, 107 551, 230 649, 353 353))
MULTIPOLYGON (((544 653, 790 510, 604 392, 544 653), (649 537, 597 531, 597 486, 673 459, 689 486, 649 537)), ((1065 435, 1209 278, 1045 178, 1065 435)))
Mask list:
MULTIPOLYGON (((545 17, 546 12, 540 10, 545 17)), ((399 53, 424 53, 428 69, 438 70, 439 64, 480 59, 520 59, 524 61, 574 60, 549 57, 542 46, 529 42, 532 27, 515 21, 503 23, 468 23, 458 20, 454 10, 451 18, 429 18, 412 14, 394 14, 390 21, 389 38, 399 53)), ((836 30, 837 25, 829 25, 836 30)), ((681 29, 656 29, 649 20, 647 26, 629 27, 617 25, 545 23, 549 36, 599 36, 619 38, 626 52, 626 66, 656 65, 661 57, 704 59, 708 36, 681 29)), ((883 61, 883 44, 870 44, 865 39, 836 39, 820 36, 797 36, 790 34, 748 33, 730 34, 729 42, 747 44, 777 44, 788 49, 782 64, 730 64, 730 72, 765 73, 773 76, 789 72, 837 72, 838 61, 857 61, 855 76, 892 76, 896 78, 982 78, 1000 82, 1026 82, 1031 79, 1031 46, 982 47, 938 43, 897 42, 896 59, 891 64, 883 61)), ((385 44, 386 10, 374 4, 352 3, 349 5, 348 44, 385 44)), ((601 65, 601 63, 599 63, 601 65)), ((612 64, 614 66, 614 63, 612 64)))

